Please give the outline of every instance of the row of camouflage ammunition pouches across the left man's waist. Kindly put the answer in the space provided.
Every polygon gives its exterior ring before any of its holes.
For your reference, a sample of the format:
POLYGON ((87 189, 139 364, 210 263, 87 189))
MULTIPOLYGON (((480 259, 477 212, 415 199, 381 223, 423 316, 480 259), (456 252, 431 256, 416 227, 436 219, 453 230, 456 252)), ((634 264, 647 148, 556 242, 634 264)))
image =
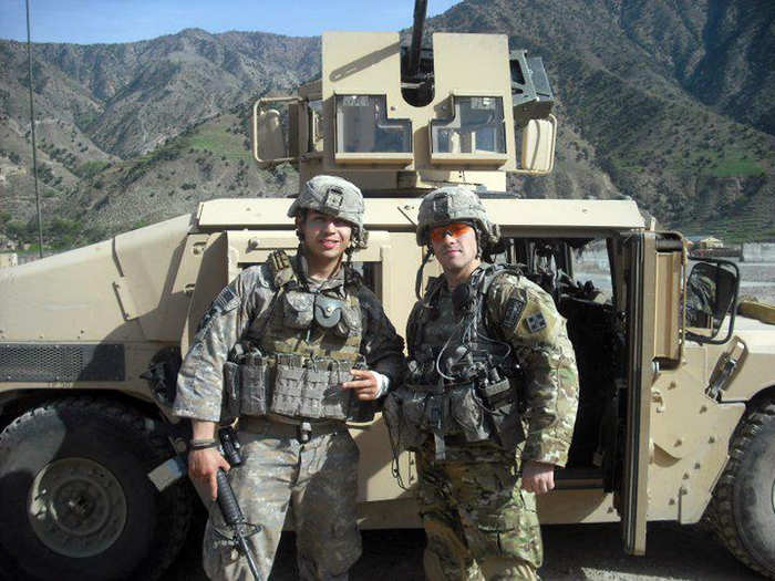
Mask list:
POLYGON ((247 356, 224 365, 225 393, 239 403, 237 415, 371 422, 373 403, 360 402, 352 390, 342 388, 352 378, 351 367, 330 357, 247 356))

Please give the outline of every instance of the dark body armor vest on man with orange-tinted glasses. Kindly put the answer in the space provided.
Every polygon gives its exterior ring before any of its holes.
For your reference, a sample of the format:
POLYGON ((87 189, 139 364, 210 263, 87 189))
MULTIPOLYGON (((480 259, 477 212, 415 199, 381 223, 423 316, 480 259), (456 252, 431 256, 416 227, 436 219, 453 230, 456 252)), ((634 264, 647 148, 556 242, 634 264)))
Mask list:
POLYGON ((486 324, 487 290, 506 272, 518 274, 508 266, 484 264, 452 293, 441 277, 428 284, 407 331, 414 346, 410 375, 391 409, 386 405, 393 440, 401 447, 416 449, 430 433, 436 458, 443 459, 448 436, 493 440, 505 449, 524 439, 516 360, 486 324))

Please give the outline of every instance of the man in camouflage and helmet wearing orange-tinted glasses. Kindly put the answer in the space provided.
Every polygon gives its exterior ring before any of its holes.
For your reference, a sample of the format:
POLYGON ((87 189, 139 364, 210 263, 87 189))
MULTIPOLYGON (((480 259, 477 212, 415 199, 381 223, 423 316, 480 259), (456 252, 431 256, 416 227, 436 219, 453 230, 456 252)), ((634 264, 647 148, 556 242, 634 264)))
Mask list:
POLYGON ((578 404, 565 319, 516 268, 483 261, 499 232, 472 191, 425 196, 416 236, 444 274, 410 315, 410 373, 385 418, 417 453, 426 577, 537 579, 535 495, 567 460, 578 404))

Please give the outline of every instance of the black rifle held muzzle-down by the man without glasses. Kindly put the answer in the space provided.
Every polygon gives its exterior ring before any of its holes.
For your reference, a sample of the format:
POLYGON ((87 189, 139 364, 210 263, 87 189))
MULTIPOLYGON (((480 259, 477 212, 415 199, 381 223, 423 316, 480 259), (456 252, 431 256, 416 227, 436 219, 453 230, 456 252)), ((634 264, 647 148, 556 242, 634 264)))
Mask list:
MULTIPOLYGON (((229 465, 232 467, 241 465, 242 457, 239 454, 239 442, 237 440, 234 428, 221 427, 218 429, 218 438, 220 439, 221 453, 229 465)), ((162 491, 182 478, 186 473, 187 465, 185 456, 177 455, 148 473, 148 478, 151 478, 151 481, 162 491)), ((247 542, 248 537, 256 535, 261 529, 261 526, 250 525, 247 521, 223 468, 218 468, 216 480, 218 483, 218 496, 216 501, 220 508, 224 521, 231 531, 231 538, 221 535, 217 530, 215 533, 220 537, 225 543, 234 546, 239 553, 245 557, 254 579, 256 581, 261 581, 261 574, 258 572, 256 560, 247 542)))

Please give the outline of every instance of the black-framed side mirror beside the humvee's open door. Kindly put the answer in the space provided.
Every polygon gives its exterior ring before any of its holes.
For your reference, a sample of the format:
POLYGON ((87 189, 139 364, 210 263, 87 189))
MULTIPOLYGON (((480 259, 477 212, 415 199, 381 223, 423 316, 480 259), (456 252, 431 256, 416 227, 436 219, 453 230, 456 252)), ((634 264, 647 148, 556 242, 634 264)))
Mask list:
POLYGON ((734 326, 740 270, 728 260, 703 260, 694 264, 686 280, 686 328, 692 328, 686 336, 699 343, 726 343, 734 326), (730 312, 728 332, 717 340, 730 312))

